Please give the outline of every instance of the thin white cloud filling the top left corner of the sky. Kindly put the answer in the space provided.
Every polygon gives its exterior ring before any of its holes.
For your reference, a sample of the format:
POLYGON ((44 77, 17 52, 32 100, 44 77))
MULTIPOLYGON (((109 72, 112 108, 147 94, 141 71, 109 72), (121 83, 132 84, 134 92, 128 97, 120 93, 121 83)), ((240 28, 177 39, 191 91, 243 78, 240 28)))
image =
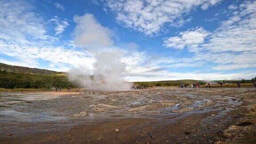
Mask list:
POLYGON ((44 20, 24 1, 0 1, 0 38, 27 43, 29 38, 44 39, 46 31, 44 20))

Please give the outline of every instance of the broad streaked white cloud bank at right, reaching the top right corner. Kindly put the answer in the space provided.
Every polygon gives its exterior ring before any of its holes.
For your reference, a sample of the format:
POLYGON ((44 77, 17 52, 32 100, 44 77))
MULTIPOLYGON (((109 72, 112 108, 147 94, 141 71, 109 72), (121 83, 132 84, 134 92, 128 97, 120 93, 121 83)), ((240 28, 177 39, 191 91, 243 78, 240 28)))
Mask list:
POLYGON ((212 67, 215 70, 255 68, 256 1, 244 1, 228 8, 228 20, 222 21, 216 30, 180 32, 179 36, 165 39, 164 46, 187 47, 190 52, 195 52, 193 59, 212 62, 216 64, 212 67), (184 34, 191 32, 193 35, 186 35, 187 38, 183 39, 184 34))

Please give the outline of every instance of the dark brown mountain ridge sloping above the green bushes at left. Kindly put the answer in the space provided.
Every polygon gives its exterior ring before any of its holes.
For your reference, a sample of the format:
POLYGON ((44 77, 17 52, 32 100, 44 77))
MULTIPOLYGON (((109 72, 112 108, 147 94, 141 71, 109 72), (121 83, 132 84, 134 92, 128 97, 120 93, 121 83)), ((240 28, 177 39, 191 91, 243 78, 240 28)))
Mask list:
POLYGON ((29 73, 29 74, 40 74, 40 75, 49 75, 59 73, 56 71, 50 71, 47 69, 40 69, 40 68, 28 68, 28 67, 21 67, 21 66, 14 66, 0 63, 0 70, 7 71, 7 72, 20 72, 20 73, 29 73))

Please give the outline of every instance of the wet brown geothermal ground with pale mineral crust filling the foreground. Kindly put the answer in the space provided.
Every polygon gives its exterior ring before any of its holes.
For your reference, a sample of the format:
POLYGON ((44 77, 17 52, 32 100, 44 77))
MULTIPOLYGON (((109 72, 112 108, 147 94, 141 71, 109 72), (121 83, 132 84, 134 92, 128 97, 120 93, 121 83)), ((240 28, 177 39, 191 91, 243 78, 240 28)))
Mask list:
POLYGON ((255 93, 176 87, 0 92, 0 142, 252 144, 255 93))

